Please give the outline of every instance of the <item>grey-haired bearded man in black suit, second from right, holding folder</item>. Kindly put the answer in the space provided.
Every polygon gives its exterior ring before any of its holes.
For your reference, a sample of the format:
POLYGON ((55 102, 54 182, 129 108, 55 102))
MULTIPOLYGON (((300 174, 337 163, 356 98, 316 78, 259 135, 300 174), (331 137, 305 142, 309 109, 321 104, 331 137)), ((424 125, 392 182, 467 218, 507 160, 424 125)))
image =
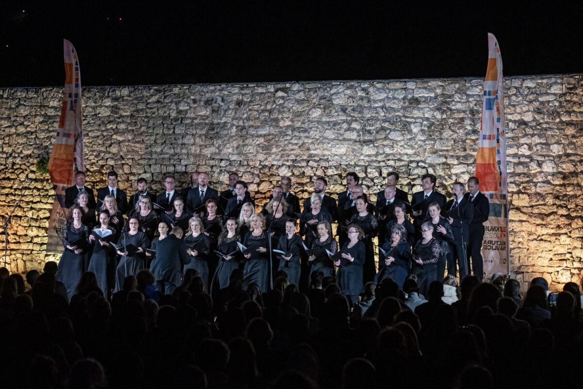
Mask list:
POLYGON ((468 241, 470 234, 470 223, 473 220, 473 204, 463 197, 465 188, 463 183, 454 182, 451 191, 454 198, 447 202, 447 220, 451 224, 451 231, 454 233, 454 250, 448 255, 447 274, 456 277, 456 262, 459 267, 459 280, 468 275, 468 241))

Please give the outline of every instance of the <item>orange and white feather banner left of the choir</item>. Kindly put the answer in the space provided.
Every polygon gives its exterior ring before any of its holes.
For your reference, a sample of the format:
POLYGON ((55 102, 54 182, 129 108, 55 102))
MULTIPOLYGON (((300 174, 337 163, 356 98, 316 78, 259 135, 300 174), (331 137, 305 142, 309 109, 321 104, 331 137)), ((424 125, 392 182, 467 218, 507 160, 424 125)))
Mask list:
POLYGON ((57 136, 48 161, 48 172, 55 188, 51 219, 48 222, 47 252, 63 250, 59 228, 65 224, 65 189, 75 183, 75 172, 85 171, 83 159, 83 122, 81 115, 81 73, 75 48, 64 40, 65 91, 57 136))

